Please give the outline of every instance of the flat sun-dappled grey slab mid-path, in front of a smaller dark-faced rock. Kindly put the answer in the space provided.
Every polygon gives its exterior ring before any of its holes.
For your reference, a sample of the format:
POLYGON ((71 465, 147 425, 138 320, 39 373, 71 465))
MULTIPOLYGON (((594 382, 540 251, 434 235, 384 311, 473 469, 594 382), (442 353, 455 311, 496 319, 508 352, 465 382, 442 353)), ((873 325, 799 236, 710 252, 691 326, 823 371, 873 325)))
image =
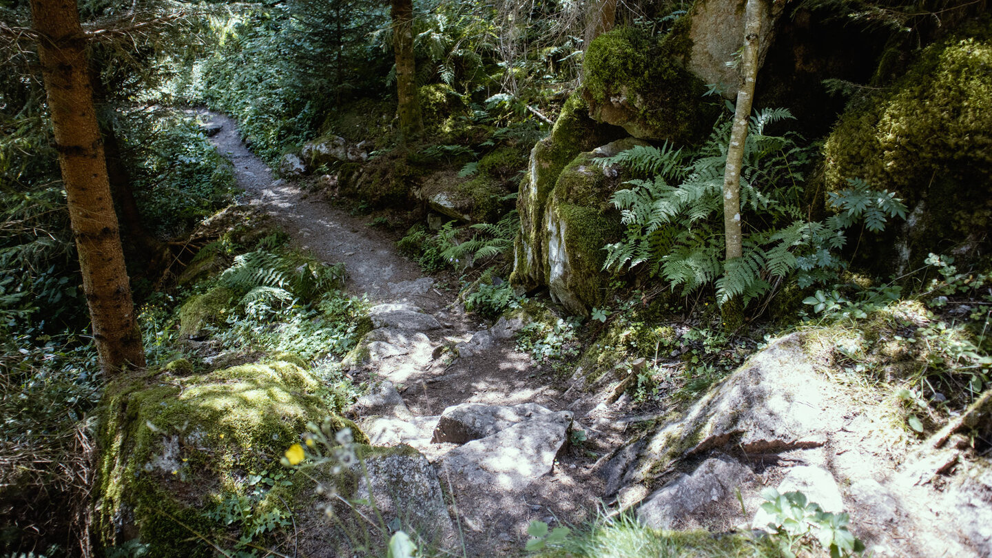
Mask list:
POLYGON ((559 411, 473 440, 438 461, 444 474, 489 490, 520 490, 551 473, 572 415, 559 411))

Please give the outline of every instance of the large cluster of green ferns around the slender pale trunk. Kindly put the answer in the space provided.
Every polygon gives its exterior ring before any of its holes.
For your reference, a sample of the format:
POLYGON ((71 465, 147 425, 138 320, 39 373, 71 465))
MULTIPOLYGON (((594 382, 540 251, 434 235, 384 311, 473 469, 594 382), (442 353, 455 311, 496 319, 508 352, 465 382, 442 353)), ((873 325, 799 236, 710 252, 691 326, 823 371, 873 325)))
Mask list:
POLYGON ((734 297, 747 304, 792 275, 802 287, 830 280, 844 265, 836 250, 846 241, 846 228, 863 219, 866 228, 878 231, 888 218, 906 216, 894 194, 854 179, 850 188, 831 194, 836 214, 823 222, 804 218, 801 169, 809 149, 792 134, 765 135, 767 125, 788 118, 786 109, 751 118, 741 171, 741 208, 748 216, 744 253, 726 262, 721 215, 729 119, 694 152, 666 144, 601 159, 601 165, 623 165, 639 177, 613 196, 626 230, 606 246, 604 269, 645 266, 673 288, 691 291, 713 283, 721 304, 734 297))

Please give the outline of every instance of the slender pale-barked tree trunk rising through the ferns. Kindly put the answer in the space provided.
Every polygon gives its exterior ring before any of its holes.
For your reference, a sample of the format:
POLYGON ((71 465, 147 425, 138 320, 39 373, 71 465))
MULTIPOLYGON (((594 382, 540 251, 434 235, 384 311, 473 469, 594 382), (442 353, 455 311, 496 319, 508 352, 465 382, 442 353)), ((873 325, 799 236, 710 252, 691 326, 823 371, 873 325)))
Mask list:
MULTIPOLYGON (((743 255, 741 232, 741 167, 744 163, 744 142, 747 140, 748 119, 754 100, 754 85, 758 75, 758 38, 764 14, 762 0, 747 0, 744 8, 744 46, 740 60, 740 82, 734 108, 727 165, 723 174, 723 229, 726 234, 726 261, 743 255)), ((736 298, 736 297, 735 297, 736 298)), ((739 325, 742 312, 739 301, 723 304, 724 323, 731 329, 739 325)))

